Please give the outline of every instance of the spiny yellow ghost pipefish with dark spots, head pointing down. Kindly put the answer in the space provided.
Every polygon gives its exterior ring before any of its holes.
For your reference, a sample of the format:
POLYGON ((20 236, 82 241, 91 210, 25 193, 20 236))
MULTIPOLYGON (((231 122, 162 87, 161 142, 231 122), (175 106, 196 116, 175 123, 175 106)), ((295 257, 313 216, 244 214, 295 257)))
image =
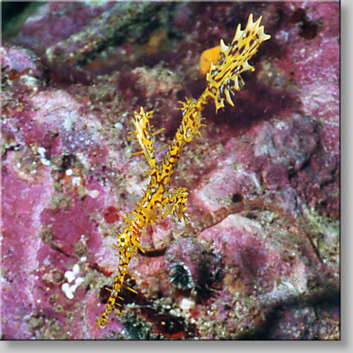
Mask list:
POLYGON ((181 112, 183 119, 172 142, 169 144, 167 152, 159 165, 155 160, 155 151, 152 136, 159 131, 152 132, 150 128, 150 118, 153 112, 145 112, 140 108, 140 112, 135 112, 133 119, 134 131, 131 139, 138 140, 142 153, 147 160, 150 171, 150 179, 147 189, 143 192, 143 196, 136 203, 135 210, 130 215, 123 217, 125 222, 124 231, 117 237, 116 256, 119 258, 117 275, 114 285, 110 291, 107 307, 100 317, 97 318, 97 325, 104 327, 107 325, 109 314, 114 310, 120 313, 114 306, 121 306, 117 302, 121 287, 126 287, 132 292, 134 289, 124 285, 124 277, 128 274, 128 264, 133 256, 136 256, 138 250, 143 251, 140 246, 140 237, 145 232, 145 228, 158 218, 167 217, 173 214, 180 221, 182 218, 186 221, 188 217, 185 215, 186 202, 188 201, 188 190, 186 188, 170 189, 170 181, 174 173, 175 167, 181 155, 181 150, 186 143, 189 143, 200 136, 200 128, 205 126, 201 121, 203 108, 212 100, 215 104, 216 113, 221 107, 225 107, 225 100, 234 106, 231 95, 233 90, 240 90, 239 81, 244 84, 241 73, 244 71, 254 71, 255 68, 249 64, 249 59, 258 50, 260 44, 270 39, 270 35, 266 35, 263 25, 260 26, 261 17, 253 22, 253 14, 249 16, 245 30, 241 30, 241 25, 237 27, 232 43, 226 45, 223 40, 220 41, 220 54, 216 64, 210 65, 206 80, 208 85, 203 94, 195 100, 186 98, 186 102, 181 103, 181 112))

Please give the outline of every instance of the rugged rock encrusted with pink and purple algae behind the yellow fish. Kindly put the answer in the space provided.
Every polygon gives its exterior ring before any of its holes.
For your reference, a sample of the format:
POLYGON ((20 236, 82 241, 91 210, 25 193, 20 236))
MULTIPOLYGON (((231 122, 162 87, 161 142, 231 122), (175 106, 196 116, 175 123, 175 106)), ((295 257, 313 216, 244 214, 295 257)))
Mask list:
POLYGON ((336 1, 37 7, 1 47, 1 338, 340 339, 339 35, 336 1), (169 143, 249 13, 271 39, 181 157, 190 220, 148 227, 96 328, 147 180, 133 112, 169 143))

